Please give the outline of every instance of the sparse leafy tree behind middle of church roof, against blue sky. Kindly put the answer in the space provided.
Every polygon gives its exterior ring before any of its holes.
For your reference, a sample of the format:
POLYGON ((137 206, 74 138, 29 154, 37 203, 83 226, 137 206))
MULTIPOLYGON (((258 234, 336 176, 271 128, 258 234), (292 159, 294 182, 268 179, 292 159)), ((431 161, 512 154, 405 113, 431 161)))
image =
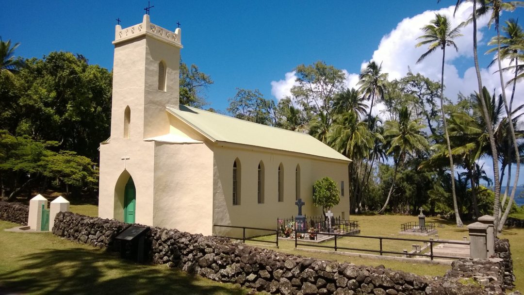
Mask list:
POLYGON ((227 112, 235 118, 258 124, 271 125, 271 112, 276 108, 275 102, 264 99, 258 89, 248 90, 237 88, 235 97, 228 100, 230 102, 227 112))

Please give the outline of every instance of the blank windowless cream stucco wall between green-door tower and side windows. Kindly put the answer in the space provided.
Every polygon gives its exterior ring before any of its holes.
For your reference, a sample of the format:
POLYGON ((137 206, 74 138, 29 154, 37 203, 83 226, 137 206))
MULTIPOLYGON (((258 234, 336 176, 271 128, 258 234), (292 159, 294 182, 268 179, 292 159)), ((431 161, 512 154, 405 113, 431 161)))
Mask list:
POLYGON ((153 224, 211 235, 213 153, 206 144, 155 144, 153 224))

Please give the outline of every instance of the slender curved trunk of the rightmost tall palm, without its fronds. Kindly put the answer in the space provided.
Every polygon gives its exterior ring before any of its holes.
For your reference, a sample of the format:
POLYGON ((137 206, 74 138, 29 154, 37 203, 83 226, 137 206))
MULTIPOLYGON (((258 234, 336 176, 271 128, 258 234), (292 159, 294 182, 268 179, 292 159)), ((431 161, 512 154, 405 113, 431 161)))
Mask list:
MULTIPOLYGON (((513 146, 515 148, 515 161, 517 163, 517 168, 515 170, 515 180, 513 183, 513 187, 511 188, 511 195, 509 197, 508 205, 506 206, 506 210, 504 212, 504 215, 502 216, 499 226, 497 227, 498 231, 502 231, 502 227, 504 226, 504 223, 506 222, 506 218, 509 214, 509 209, 511 209, 511 204, 513 203, 513 200, 515 199, 515 191, 517 190, 518 182, 519 182, 519 173, 520 173, 520 155, 519 155, 519 148, 517 145, 517 138, 515 136, 515 128, 513 128, 513 120, 511 119, 511 106, 508 106, 508 101, 506 99, 506 85, 504 84, 504 77, 502 75, 502 64, 500 61, 500 30, 498 27, 498 17, 495 19, 495 26, 497 28, 497 63, 498 63, 498 73, 500 77, 500 86, 502 88, 502 99, 504 100, 504 106, 506 107, 506 114, 508 117, 508 126, 509 131, 511 135, 511 140, 513 141, 513 146)), ((515 69, 516 71, 517 69, 515 69)), ((511 167, 511 162, 509 161, 509 166, 511 167)), ((510 174, 508 174, 508 180, 510 178, 510 174)), ((507 188, 507 186, 506 186, 507 188)), ((503 207, 504 202, 506 201, 506 195, 504 196, 503 201, 503 207)))

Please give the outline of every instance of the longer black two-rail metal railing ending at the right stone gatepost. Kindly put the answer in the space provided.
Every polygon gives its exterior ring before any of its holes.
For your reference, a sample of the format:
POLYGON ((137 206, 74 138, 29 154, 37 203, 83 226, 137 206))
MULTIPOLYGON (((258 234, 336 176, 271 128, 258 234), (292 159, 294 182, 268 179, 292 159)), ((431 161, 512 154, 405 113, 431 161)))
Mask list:
POLYGON ((399 255, 409 255, 409 256, 420 256, 420 257, 429 257, 431 260, 433 258, 447 258, 447 259, 459 259, 459 258, 468 258, 468 257, 456 257, 456 256, 446 256, 446 255, 435 255, 433 254, 433 245, 434 244, 440 244, 440 243, 446 243, 446 244, 459 244, 459 245, 469 245, 470 242, 462 242, 462 241, 433 241, 433 239, 429 240, 423 240, 423 239, 410 239, 410 238, 394 238, 394 237, 375 237, 375 236, 348 236, 344 234, 336 234, 336 233, 325 233, 325 235, 334 236, 334 246, 325 245, 325 244, 317 244, 317 243, 299 243, 299 239, 297 238, 298 234, 308 234, 308 232, 300 232, 297 231, 297 234, 295 235, 295 248, 297 246, 308 246, 308 247, 318 247, 318 248, 329 248, 334 249, 335 251, 338 250, 350 250, 350 251, 362 251, 362 252, 371 252, 371 253, 379 253, 381 256, 384 254, 399 254, 399 255), (337 245, 337 237, 340 240, 341 237, 345 237, 348 239, 352 238, 368 238, 368 239, 376 239, 379 243, 379 249, 364 249, 364 248, 350 248, 350 247, 340 247, 337 245), (390 250, 384 250, 383 248, 383 241, 409 241, 409 242, 422 242, 427 243, 429 245, 429 253, 407 253, 407 252, 397 252, 397 251, 390 251, 390 250))

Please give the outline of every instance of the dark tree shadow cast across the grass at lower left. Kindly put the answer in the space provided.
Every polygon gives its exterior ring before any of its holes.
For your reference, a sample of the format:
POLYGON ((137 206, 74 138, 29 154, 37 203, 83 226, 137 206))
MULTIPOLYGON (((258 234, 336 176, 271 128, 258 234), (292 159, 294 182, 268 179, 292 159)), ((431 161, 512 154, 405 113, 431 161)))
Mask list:
POLYGON ((230 284, 81 248, 42 250, 17 266, 0 274, 0 294, 245 294, 230 284))

